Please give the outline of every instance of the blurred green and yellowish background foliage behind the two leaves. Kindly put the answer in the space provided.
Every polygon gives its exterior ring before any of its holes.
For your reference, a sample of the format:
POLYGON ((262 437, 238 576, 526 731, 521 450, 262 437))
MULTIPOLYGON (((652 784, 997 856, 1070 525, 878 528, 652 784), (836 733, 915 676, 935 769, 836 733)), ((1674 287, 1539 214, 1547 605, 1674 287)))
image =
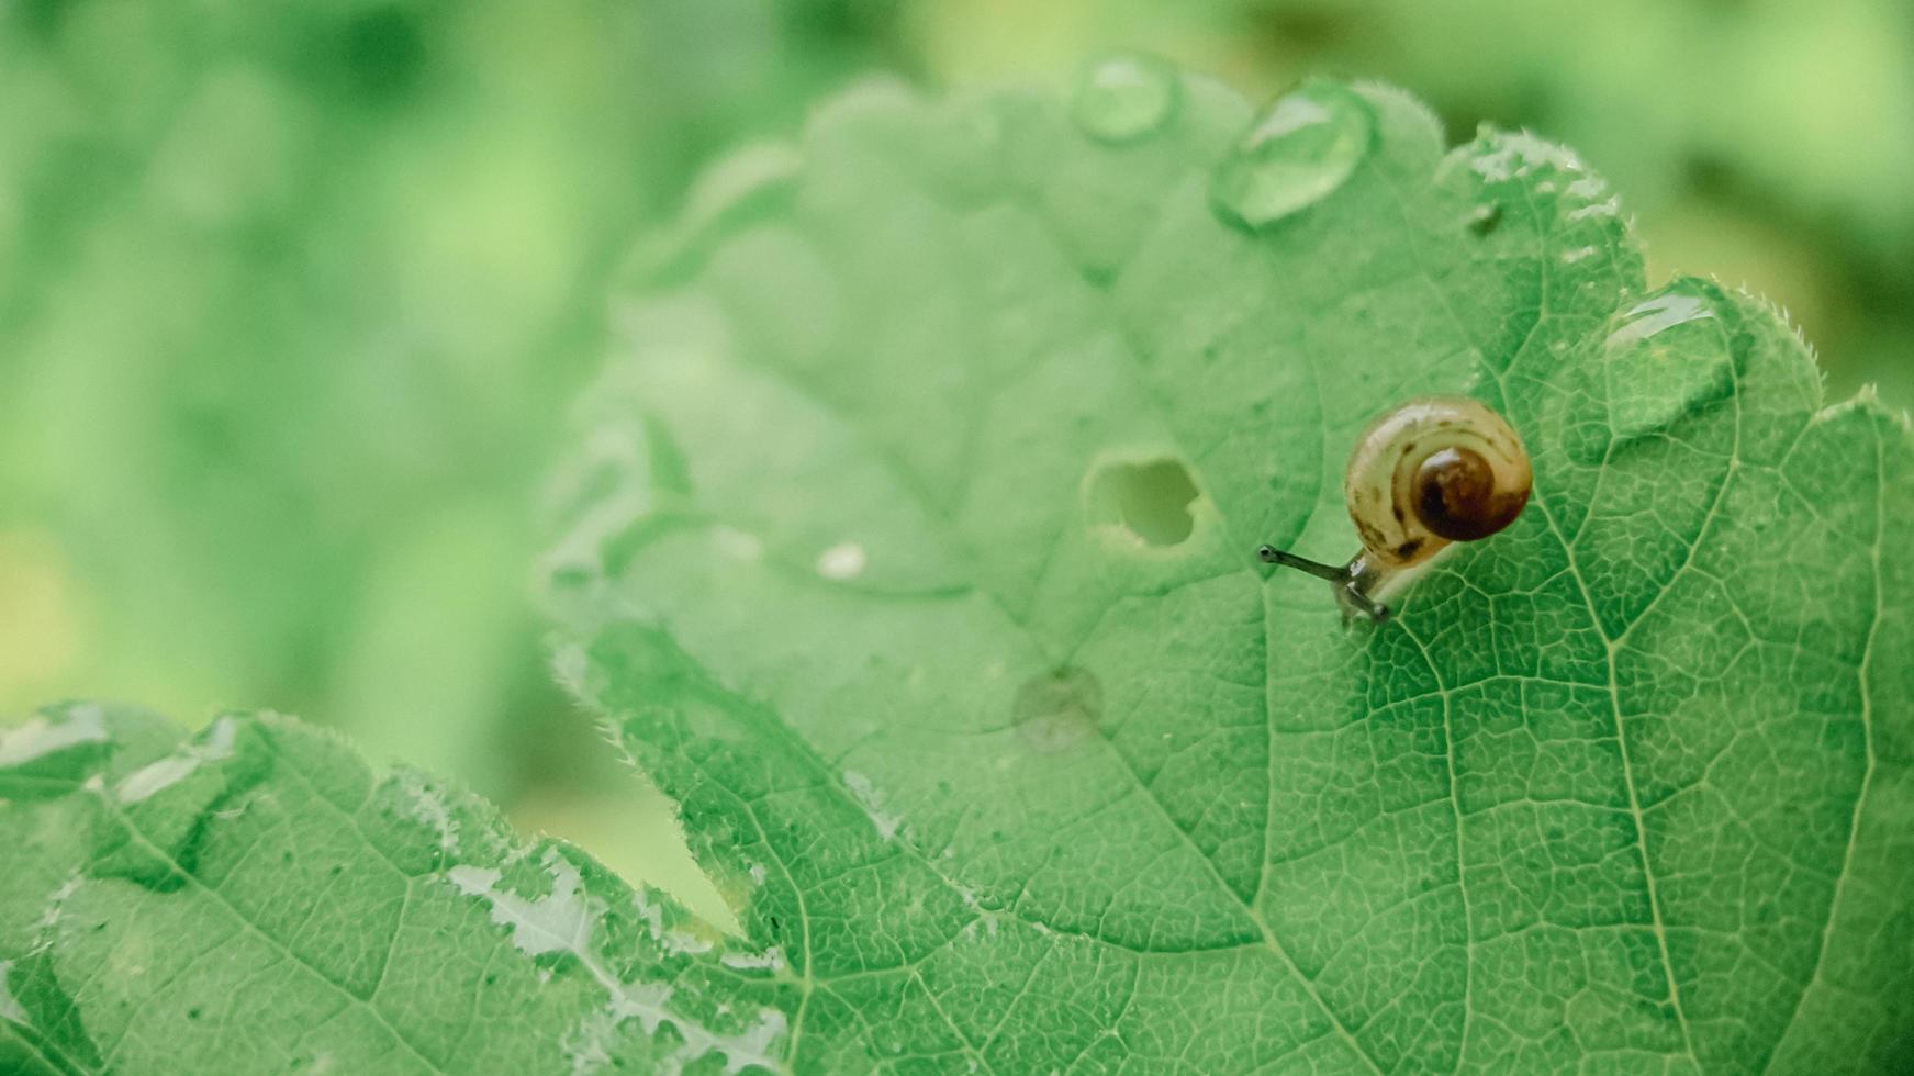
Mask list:
POLYGON ((869 71, 1145 48, 1568 142, 1652 272, 1914 400, 1904 0, 13 0, 0 6, 0 714, 279 708, 630 875, 689 869, 551 685, 540 475, 620 257, 869 71))

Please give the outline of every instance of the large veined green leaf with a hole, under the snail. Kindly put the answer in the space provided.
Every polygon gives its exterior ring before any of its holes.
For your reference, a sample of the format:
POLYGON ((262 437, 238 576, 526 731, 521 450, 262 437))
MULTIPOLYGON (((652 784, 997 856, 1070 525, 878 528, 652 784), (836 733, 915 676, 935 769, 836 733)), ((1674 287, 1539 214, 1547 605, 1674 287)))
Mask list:
POLYGON ((838 100, 586 400, 559 664, 787 955, 781 1055, 1906 1065, 1904 419, 1650 289, 1562 147, 1156 71, 838 100), (1434 391, 1535 498, 1342 630, 1252 549, 1351 553, 1434 391))

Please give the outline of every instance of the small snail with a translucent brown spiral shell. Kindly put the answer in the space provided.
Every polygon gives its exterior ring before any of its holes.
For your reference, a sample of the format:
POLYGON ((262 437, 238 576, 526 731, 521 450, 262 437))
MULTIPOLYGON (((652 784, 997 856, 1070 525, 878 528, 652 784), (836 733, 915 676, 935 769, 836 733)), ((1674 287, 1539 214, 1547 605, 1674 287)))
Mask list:
POLYGON ((1399 572, 1451 542, 1478 542, 1508 527, 1529 502, 1529 454, 1502 419, 1468 396, 1418 396, 1363 429, 1344 471, 1349 519, 1363 549, 1344 567, 1275 546, 1263 563, 1326 578, 1347 624, 1357 613, 1390 618, 1374 595, 1399 572))

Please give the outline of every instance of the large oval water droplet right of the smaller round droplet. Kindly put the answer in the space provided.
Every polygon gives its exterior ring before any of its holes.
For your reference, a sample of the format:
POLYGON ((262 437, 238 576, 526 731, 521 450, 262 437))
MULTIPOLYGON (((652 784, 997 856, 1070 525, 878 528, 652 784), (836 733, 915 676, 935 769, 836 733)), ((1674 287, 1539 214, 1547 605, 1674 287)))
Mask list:
POLYGON ((1376 142, 1369 101, 1336 82, 1277 98, 1236 140, 1210 180, 1229 222, 1267 228, 1340 188, 1376 142))

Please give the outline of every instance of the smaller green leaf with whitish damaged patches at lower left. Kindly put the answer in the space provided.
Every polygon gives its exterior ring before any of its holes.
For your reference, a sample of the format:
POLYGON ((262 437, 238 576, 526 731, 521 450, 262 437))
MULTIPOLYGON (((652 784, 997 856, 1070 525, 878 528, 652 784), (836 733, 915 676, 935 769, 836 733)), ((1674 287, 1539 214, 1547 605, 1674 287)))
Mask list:
POLYGON ((775 952, 329 733, 176 739, 73 705, 0 741, 0 1070, 777 1066, 731 971, 775 952))

